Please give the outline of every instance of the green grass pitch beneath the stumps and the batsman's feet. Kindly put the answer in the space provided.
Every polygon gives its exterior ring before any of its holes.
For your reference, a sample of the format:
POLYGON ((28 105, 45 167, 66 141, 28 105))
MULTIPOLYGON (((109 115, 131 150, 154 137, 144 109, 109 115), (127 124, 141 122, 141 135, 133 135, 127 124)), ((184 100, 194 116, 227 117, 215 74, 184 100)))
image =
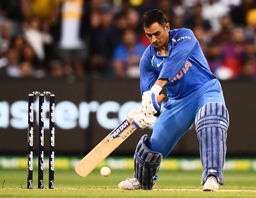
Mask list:
MULTIPOLYGON (((156 189, 152 191, 124 191, 117 185, 132 177, 131 170, 113 170, 109 177, 93 171, 80 178, 73 170, 55 171, 55 189, 48 188, 48 172, 44 173, 46 189, 26 188, 26 170, 0 170, 0 197, 173 197, 173 198, 255 198, 256 172, 225 172, 225 185, 219 192, 203 192, 199 171, 159 171, 156 189), (3 180, 5 183, 2 188, 3 180), (22 187, 21 187, 22 186, 22 187)), ((37 170, 33 172, 33 185, 37 187, 37 170)))

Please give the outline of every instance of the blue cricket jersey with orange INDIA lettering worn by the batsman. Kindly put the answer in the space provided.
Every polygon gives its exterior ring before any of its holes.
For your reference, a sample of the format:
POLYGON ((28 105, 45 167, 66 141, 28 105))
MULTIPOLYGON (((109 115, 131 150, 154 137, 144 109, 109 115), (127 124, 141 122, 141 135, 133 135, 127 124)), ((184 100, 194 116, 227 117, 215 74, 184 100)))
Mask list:
POLYGON ((140 59, 141 93, 150 90, 158 79, 169 80, 165 88, 171 100, 182 99, 217 79, 190 29, 169 31, 168 56, 162 56, 152 44, 144 51, 140 59))

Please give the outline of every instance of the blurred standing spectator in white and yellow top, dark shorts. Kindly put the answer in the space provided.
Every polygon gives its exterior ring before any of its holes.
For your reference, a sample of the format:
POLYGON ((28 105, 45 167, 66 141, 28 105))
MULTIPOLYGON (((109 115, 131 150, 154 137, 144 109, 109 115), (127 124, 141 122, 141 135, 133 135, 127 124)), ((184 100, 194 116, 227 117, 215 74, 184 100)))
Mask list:
POLYGON ((83 76, 83 61, 88 57, 85 40, 81 38, 85 5, 82 0, 63 0, 61 4, 61 38, 59 55, 68 71, 75 70, 76 75, 83 76))

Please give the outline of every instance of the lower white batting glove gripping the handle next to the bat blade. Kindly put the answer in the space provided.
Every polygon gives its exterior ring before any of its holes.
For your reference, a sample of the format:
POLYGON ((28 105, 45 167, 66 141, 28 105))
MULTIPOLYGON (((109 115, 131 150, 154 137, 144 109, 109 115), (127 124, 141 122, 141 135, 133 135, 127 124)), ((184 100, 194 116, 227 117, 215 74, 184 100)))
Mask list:
POLYGON ((145 114, 138 109, 129 111, 128 118, 133 120, 133 125, 135 125, 137 128, 145 128, 154 124, 156 121, 156 117, 153 115, 145 116, 145 114))

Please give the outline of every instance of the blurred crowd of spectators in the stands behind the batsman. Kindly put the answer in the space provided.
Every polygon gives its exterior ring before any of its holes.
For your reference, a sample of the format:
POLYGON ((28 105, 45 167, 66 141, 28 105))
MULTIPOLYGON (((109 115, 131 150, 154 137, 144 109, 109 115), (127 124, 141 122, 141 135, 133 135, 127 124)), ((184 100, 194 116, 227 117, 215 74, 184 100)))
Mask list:
POLYGON ((138 78, 150 9, 192 29, 219 79, 256 78, 255 0, 0 0, 0 76, 138 78))

